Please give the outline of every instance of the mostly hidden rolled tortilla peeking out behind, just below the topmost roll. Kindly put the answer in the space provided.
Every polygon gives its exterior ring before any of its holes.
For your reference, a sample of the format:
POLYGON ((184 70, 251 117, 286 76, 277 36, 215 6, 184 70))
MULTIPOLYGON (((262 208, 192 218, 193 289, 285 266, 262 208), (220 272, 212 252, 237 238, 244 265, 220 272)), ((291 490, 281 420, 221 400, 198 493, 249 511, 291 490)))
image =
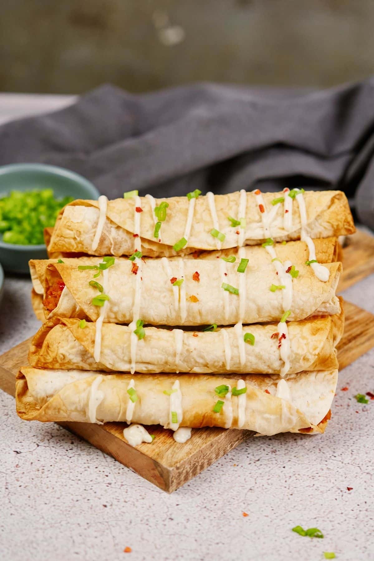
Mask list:
MULTIPOLYGON (((45 228, 47 229, 47 228, 45 228)), ((338 238, 320 238, 313 240, 316 248, 316 259, 318 263, 335 263, 335 261, 341 261, 341 251, 339 252, 338 238), (340 259, 338 259, 338 256, 340 259)), ((307 244, 302 241, 288 242, 285 245, 282 243, 276 243, 274 245, 276 255, 278 255, 281 261, 290 260, 293 263, 305 263, 309 259, 309 251, 307 244)), ((252 265, 266 265, 271 263, 271 256, 266 251, 265 247, 262 246, 246 246, 243 248, 247 259, 250 260, 252 265)), ((184 258, 190 257, 195 259, 218 259, 219 257, 228 257, 229 255, 238 256, 239 249, 234 247, 233 249, 220 250, 220 251, 205 251, 200 252, 200 254, 188 254, 184 258)), ((68 265, 95 265, 100 263, 101 258, 99 256, 68 256, 73 254, 60 254, 53 259, 31 259, 29 261, 30 275, 33 282, 33 287, 38 294, 43 294, 44 292, 44 282, 45 282, 45 269, 50 263, 57 263, 58 259, 63 259, 64 263, 68 265), (75 259, 75 260, 74 260, 75 259), (77 261, 79 259, 79 261, 77 261)), ((127 257, 117 257, 117 260, 126 260, 127 257)), ((171 259, 178 259, 178 257, 171 257, 171 259)))

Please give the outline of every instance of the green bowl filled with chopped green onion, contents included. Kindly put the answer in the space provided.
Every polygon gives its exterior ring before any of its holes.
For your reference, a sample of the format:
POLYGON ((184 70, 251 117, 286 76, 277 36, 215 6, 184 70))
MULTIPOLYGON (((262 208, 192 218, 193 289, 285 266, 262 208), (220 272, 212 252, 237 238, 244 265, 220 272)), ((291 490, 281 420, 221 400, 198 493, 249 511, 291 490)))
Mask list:
POLYGON ((0 167, 0 263, 4 270, 29 271, 29 259, 45 259, 43 231, 53 227, 73 199, 97 199, 99 191, 84 177, 54 165, 0 167))

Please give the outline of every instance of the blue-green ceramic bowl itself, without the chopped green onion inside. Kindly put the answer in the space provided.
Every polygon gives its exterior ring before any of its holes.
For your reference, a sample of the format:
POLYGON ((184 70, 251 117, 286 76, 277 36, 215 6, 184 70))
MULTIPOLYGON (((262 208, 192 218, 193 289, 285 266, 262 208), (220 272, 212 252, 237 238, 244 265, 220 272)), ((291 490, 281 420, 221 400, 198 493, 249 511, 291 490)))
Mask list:
MULTIPOLYGON (((97 199, 99 191, 90 181, 69 169, 45 164, 11 164, 0 167, 0 197, 10 191, 53 189, 57 199, 97 199)), ((4 270, 28 273, 29 259, 46 259, 45 245, 4 243, 0 234, 0 263, 4 270)))

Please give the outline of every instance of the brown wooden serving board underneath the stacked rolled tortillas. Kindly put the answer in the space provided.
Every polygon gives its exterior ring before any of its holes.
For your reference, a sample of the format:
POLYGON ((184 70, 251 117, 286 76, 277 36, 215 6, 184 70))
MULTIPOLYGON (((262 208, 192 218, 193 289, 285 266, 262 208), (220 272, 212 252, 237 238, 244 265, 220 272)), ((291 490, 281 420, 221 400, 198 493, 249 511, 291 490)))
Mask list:
MULTIPOLYGON (((349 237, 343 254, 344 273, 339 292, 374 272, 374 238, 357 232, 349 237)), ((374 315, 350 302, 344 303, 344 309, 345 330, 338 346, 340 368, 351 364, 374 346, 374 315)), ((15 394, 15 376, 20 367, 27 364, 30 341, 27 339, 0 357, 0 388, 12 396, 15 394)), ((195 429, 190 440, 178 444, 172 431, 153 426, 150 433, 156 436, 154 442, 132 448, 123 438, 122 431, 127 426, 124 423, 68 422, 61 425, 168 493, 253 434, 247 430, 215 427, 195 429)))

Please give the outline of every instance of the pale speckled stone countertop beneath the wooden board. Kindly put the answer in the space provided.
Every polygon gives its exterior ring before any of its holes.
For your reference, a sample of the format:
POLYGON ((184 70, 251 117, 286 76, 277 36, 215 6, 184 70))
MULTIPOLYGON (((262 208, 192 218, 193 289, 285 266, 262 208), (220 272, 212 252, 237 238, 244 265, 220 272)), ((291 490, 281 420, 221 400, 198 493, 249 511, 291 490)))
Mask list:
MULTIPOLYGON (((343 296, 374 313, 373 286, 343 296)), ((30 289, 6 278, 0 353, 40 325, 30 289)), ((0 559, 374 559, 374 402, 353 398, 374 392, 373 374, 374 350, 341 371, 325 435, 252 438, 172 495, 57 425, 21 421, 0 391, 0 559)))

